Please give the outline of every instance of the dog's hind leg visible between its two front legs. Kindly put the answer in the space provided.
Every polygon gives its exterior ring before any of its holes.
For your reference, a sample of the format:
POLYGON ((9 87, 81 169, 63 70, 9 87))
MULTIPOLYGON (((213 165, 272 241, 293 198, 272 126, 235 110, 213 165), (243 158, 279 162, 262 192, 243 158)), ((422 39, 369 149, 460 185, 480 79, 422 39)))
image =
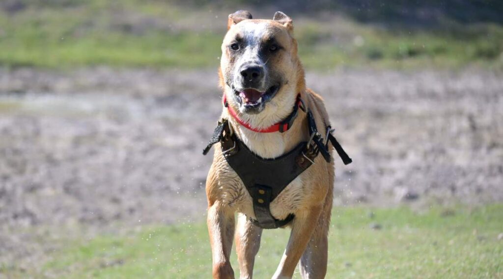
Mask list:
POLYGON ((239 278, 251 279, 255 256, 259 252, 262 228, 254 225, 246 215, 239 214, 235 234, 239 278))

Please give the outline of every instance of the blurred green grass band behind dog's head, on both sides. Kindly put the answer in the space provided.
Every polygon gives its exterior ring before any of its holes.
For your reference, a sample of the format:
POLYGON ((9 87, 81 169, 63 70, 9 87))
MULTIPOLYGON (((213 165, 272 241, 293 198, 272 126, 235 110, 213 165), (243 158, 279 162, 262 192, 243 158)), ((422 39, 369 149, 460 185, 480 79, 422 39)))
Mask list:
MULTIPOLYGON (((0 65, 217 67, 233 9, 180 1, 25 3, 16 12, 0 10, 0 65)), ((497 24, 408 30, 334 14, 323 20, 295 16, 294 25, 308 68, 503 65, 503 27, 497 24)))

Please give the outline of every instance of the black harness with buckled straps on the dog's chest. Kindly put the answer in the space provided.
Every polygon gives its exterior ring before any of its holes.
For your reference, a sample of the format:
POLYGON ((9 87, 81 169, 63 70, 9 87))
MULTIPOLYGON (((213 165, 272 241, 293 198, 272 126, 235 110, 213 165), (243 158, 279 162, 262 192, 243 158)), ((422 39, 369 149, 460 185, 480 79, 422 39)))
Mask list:
MULTIPOLYGON (((224 104, 226 105, 226 104, 224 104)), ((292 113, 282 122, 288 121, 289 126, 297 116, 297 105, 292 113)), ((298 144, 293 150, 274 159, 264 159, 251 152, 245 144, 232 132, 229 122, 222 119, 218 122, 208 146, 203 155, 208 154, 211 147, 220 142, 222 154, 230 167, 237 173, 246 190, 253 199, 253 207, 257 219, 250 220, 265 229, 274 229, 288 224, 295 217, 289 214, 284 220, 273 217, 270 210, 271 202, 297 176, 314 164, 319 153, 326 162, 330 162, 328 142, 336 149, 345 165, 352 162, 337 139, 332 135, 330 126, 326 127, 326 140, 318 132, 314 116, 304 106, 301 109, 307 113, 309 142, 298 144)), ((280 132, 284 132, 283 129, 280 132)))

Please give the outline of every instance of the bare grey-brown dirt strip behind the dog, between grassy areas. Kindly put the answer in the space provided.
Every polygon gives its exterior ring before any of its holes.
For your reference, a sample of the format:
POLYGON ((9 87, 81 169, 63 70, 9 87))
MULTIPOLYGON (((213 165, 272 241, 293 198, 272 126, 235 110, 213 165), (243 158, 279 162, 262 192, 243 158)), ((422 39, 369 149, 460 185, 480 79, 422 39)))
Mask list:
MULTIPOLYGON (((503 202, 503 73, 340 69, 307 83, 354 160, 336 158, 336 204, 503 202)), ((220 110, 211 70, 0 69, 0 265, 52 249, 30 244, 40 228, 203 218, 201 151, 220 110)))

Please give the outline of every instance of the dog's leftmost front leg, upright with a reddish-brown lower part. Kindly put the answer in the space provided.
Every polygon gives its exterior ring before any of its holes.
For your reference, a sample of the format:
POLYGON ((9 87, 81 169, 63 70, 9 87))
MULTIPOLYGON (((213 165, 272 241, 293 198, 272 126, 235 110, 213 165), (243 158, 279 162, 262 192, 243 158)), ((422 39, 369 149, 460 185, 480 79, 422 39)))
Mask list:
POLYGON ((230 266, 234 213, 215 202, 208 208, 207 223, 213 255, 213 278, 234 279, 234 270, 230 266))

